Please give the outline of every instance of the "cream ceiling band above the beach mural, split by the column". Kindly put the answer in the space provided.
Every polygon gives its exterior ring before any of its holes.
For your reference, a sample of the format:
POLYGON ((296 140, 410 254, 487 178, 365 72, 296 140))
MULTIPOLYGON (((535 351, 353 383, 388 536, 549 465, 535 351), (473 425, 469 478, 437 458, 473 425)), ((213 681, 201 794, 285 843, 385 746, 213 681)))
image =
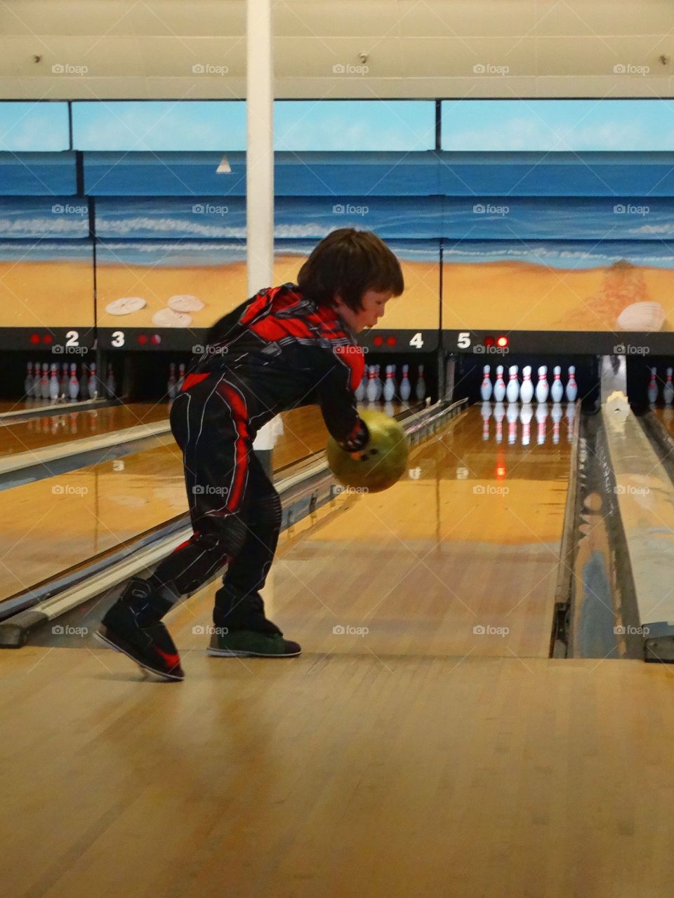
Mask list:
MULTIPOLYGON (((272 5, 278 98, 674 95, 674 0, 272 5)), ((0 4, 0 98, 244 96, 244 0, 0 4)))

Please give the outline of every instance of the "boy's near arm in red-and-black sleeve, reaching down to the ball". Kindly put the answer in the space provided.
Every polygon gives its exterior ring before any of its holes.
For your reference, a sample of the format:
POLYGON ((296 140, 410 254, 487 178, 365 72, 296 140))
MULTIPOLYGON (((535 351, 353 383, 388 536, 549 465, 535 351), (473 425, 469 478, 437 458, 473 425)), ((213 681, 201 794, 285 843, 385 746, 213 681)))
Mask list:
POLYGON ((338 347, 333 354, 333 365, 316 388, 325 427, 346 452, 357 452, 369 439, 355 396, 364 367, 362 349, 338 347))

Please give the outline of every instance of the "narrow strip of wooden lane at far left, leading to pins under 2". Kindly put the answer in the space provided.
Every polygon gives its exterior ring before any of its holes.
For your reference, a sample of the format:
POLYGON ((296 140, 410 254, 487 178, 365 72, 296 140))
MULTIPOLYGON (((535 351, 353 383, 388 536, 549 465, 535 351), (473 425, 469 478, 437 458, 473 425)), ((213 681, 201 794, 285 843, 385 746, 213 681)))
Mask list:
POLYGON ((0 425, 0 456, 81 440, 85 436, 110 434, 164 419, 168 420, 168 406, 165 403, 155 405, 141 402, 31 418, 16 424, 0 425))

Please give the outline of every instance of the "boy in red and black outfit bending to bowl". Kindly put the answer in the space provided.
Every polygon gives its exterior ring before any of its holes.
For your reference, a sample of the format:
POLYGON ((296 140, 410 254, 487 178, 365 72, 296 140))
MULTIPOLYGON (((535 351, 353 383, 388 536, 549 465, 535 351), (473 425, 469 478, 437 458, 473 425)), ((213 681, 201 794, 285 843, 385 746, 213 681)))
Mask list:
POLYGON ((386 244, 375 233, 341 228, 315 247, 297 286, 261 290, 217 321, 171 409, 194 533, 151 577, 129 582, 99 639, 164 680, 182 680, 161 620, 226 566, 208 653, 300 654, 264 615, 260 590, 279 540, 281 505, 253 439, 279 411, 317 403, 342 448, 366 445, 354 396, 364 369, 355 334, 373 327, 403 290, 400 263, 386 244))

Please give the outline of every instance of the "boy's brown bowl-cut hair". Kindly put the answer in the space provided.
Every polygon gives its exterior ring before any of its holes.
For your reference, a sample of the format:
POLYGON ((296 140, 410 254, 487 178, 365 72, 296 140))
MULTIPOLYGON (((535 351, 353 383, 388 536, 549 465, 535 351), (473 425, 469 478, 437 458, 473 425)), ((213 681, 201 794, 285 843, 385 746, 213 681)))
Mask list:
POLYGON ((400 262, 372 231, 342 227, 315 247, 297 275, 297 286, 319 305, 333 305, 335 296, 354 312, 368 290, 404 291, 400 262))

